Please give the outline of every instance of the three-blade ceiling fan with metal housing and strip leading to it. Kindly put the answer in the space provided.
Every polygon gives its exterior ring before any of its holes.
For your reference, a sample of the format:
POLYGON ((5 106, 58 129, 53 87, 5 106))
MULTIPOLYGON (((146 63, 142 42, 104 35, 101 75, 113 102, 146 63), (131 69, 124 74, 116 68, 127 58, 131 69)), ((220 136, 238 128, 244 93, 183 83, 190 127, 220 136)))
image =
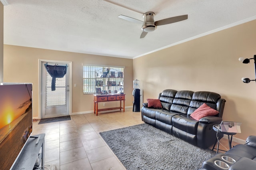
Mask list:
MULTIPOLYGON (((110 2, 108 0, 104 0, 104 1, 109 2, 111 4, 115 4, 115 3, 110 2)), ((120 4, 115 4, 115 5, 121 6, 122 8, 126 8, 128 10, 132 10, 132 9, 127 8, 125 6, 122 6, 120 4)), ((138 11, 135 11, 135 10, 132 10, 132 11, 138 12, 138 11)), ((141 12, 138 12, 138 13, 141 14, 141 12)), ((179 22, 179 21, 188 19, 188 15, 181 15, 181 16, 174 16, 174 17, 166 18, 166 19, 163 19, 163 20, 158 20, 158 21, 155 22, 154 21, 154 16, 155 16, 154 12, 144 13, 143 14, 144 22, 141 21, 141 20, 137 20, 135 18, 131 18, 129 16, 124 16, 124 15, 120 15, 120 16, 118 16, 118 18, 122 18, 122 19, 130 21, 130 22, 142 24, 142 28, 141 28, 142 33, 140 35, 140 38, 144 38, 148 34, 148 32, 152 32, 152 31, 156 30, 157 26, 172 24, 174 22, 179 22)))

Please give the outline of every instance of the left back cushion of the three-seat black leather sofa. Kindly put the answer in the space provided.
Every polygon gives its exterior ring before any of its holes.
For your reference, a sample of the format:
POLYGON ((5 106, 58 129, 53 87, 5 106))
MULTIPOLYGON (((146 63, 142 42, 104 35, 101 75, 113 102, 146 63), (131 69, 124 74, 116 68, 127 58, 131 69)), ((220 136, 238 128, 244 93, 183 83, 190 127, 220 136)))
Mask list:
POLYGON ((172 101, 176 95, 177 91, 172 89, 166 89, 159 95, 159 99, 162 103, 162 107, 166 110, 170 110, 172 101))

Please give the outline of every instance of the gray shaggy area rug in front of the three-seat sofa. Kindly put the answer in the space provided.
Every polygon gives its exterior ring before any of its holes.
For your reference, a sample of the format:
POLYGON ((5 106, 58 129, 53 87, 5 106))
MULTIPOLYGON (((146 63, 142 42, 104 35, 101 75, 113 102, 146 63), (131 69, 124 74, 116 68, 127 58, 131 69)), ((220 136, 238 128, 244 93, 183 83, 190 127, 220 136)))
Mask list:
POLYGON ((100 135, 128 170, 198 170, 216 154, 146 123, 100 135))

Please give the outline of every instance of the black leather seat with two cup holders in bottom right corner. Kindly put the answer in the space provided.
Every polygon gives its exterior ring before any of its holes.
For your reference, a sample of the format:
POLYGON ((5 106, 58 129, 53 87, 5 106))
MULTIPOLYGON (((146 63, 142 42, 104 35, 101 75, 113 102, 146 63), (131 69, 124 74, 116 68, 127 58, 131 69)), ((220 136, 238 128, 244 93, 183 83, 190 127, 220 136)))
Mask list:
POLYGON ((203 162, 202 170, 255 170, 256 136, 248 136, 246 144, 238 144, 226 153, 218 153, 203 162))

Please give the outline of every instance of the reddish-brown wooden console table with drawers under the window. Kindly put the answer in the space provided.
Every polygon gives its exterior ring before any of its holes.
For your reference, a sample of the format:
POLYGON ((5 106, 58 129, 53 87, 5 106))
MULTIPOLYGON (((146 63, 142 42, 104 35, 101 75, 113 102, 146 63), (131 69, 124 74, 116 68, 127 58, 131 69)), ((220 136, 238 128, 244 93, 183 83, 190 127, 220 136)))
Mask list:
POLYGON ((96 113, 96 116, 98 116, 99 111, 108 111, 108 110, 114 110, 114 109, 120 109, 120 111, 121 109, 123 109, 124 111, 124 101, 125 101, 125 94, 94 95, 94 114, 96 113), (120 101, 120 107, 98 109, 99 102, 108 102, 108 101, 120 101), (122 101, 123 101, 123 107, 122 107, 122 101))

